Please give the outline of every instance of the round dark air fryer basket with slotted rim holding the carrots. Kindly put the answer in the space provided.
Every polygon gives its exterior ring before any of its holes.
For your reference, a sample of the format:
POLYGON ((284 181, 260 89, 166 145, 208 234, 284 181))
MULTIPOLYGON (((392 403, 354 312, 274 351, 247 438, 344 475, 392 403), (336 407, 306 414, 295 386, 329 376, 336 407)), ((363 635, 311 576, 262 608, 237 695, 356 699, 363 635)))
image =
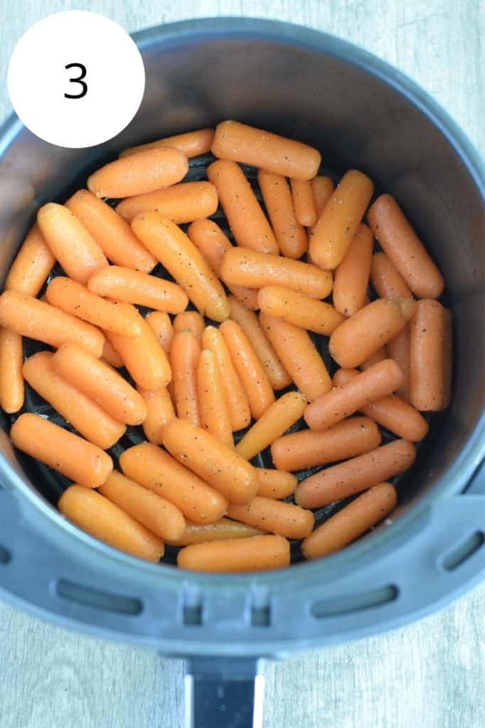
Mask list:
MULTIPOLYGON (((75 151, 39 141, 15 119, 1 130, 2 277, 39 205, 63 202, 120 149, 233 118, 311 143, 326 172, 355 167, 376 182, 377 194, 395 194, 443 271, 454 317, 452 406, 433 416, 416 464, 398 479, 393 523, 340 554, 284 571, 192 574, 114 551, 55 511, 63 478, 25 456, 17 460, 0 432, 0 593, 64 625, 191 655, 194 673, 209 676, 207 696, 216 681, 206 656, 218 655, 216 669, 228 676, 245 677, 258 657, 390 628, 438 608, 480 577, 483 169, 433 100, 389 66, 322 33, 218 19, 154 28, 135 40, 146 94, 117 138, 75 151)), ((195 160, 190 174, 200 173, 195 160)), ((28 342, 25 353, 35 346, 28 342)), ((326 339, 318 346, 326 355, 326 339)), ((31 389, 26 408, 50 413, 31 389)), ((6 418, 1 424, 8 430, 6 418)), ((139 440, 141 431, 131 428, 112 452, 139 440)), ((262 458, 267 464, 267 454, 262 458)), ((198 685, 196 678, 196 695, 198 685)))

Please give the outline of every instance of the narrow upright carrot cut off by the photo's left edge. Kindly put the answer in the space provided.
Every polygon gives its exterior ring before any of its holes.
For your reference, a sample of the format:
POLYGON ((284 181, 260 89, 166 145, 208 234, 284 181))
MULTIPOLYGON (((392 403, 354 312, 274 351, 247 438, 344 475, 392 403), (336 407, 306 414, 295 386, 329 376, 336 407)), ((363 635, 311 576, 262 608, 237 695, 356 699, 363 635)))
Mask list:
POLYGON ((0 406, 8 414, 23 405, 22 336, 0 328, 0 406))

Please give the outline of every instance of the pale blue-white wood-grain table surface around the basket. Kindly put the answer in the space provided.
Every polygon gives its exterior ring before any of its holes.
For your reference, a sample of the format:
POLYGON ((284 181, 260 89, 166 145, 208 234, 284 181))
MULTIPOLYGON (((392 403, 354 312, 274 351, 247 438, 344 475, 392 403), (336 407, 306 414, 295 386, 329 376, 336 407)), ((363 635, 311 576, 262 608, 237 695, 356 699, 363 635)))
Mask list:
MULTIPOLYGON (((51 12, 89 9, 128 31, 240 15, 325 30, 430 92, 485 148, 481 0, 0 0, 0 119, 9 56, 51 12)), ((391 633, 268 664, 265 728, 480 728, 485 586, 391 633)), ((0 604, 0 728, 180 728, 183 665, 46 625, 0 604)))

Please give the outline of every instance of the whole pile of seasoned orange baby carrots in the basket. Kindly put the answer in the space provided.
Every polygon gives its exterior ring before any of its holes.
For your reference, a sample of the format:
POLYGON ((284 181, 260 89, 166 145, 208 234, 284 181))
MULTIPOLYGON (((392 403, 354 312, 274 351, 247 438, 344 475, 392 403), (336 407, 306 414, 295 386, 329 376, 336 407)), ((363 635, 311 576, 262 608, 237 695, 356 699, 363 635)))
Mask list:
POLYGON ((40 208, 0 296, 0 403, 20 411, 27 381, 70 424, 24 412, 10 437, 72 481, 58 507, 85 531, 150 561, 181 547, 183 569, 251 571, 288 566, 293 539, 308 559, 339 550, 395 507, 387 481, 414 462, 420 412, 449 405, 443 278, 393 197, 369 207, 365 174, 335 188, 319 167, 312 147, 225 121, 127 149, 40 208), (182 181, 209 151, 208 181, 182 181), (329 337, 333 379, 309 332, 329 337), (23 337, 50 349, 24 362, 23 337), (106 450, 134 425, 146 441, 118 472, 106 450), (398 439, 382 445, 379 426, 398 439), (255 467, 266 448, 275 467, 255 467), (312 509, 349 496, 315 528, 312 509))

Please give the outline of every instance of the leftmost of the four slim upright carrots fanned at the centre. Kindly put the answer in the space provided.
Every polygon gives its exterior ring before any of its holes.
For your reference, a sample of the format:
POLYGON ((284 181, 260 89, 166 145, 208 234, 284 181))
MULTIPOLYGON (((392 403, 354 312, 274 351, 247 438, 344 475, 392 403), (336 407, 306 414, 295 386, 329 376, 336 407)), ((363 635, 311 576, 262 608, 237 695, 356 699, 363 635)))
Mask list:
POLYGON ((173 396, 177 416, 200 424, 200 403, 197 391, 197 365, 200 344, 192 331, 179 331, 170 349, 173 396))

